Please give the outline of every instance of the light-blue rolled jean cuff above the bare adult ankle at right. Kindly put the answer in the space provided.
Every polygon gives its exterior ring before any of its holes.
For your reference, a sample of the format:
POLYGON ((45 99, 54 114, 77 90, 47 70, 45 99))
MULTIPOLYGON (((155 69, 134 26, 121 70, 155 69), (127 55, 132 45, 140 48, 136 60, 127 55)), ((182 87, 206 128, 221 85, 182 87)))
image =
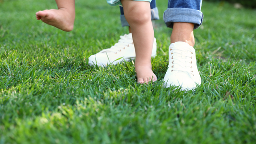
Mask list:
POLYGON ((188 8, 168 8, 164 12, 164 22, 167 27, 173 28, 173 23, 193 23, 197 29, 203 22, 203 12, 188 8))

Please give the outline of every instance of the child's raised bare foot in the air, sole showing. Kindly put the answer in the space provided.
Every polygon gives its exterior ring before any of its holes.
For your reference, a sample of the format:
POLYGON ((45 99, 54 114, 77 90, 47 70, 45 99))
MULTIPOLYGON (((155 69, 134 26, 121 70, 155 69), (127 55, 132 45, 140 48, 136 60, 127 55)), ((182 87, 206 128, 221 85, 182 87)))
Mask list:
POLYGON ((36 12, 36 17, 37 20, 42 20, 44 23, 55 26, 63 31, 70 32, 73 30, 75 16, 63 9, 39 11, 36 12))

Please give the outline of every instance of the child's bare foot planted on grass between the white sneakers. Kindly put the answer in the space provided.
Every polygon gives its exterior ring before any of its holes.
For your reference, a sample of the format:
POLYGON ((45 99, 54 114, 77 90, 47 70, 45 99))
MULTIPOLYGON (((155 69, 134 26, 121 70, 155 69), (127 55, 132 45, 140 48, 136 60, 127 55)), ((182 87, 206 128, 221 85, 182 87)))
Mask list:
POLYGON ((137 75, 137 81, 139 84, 147 84, 148 82, 155 82, 158 78, 152 71, 150 62, 135 61, 135 71, 137 75))

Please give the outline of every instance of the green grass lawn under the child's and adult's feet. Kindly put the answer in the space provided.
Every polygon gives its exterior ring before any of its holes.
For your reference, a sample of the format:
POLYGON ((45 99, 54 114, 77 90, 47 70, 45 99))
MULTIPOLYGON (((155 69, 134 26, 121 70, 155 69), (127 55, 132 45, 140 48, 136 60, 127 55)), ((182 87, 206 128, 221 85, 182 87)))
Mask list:
POLYGON ((63 32, 36 20, 54 0, 0 0, 0 144, 255 144, 256 10, 203 2, 202 85, 184 92, 162 87, 171 29, 157 2, 158 81, 136 84, 133 62, 88 65, 128 33, 118 7, 76 0, 63 32))

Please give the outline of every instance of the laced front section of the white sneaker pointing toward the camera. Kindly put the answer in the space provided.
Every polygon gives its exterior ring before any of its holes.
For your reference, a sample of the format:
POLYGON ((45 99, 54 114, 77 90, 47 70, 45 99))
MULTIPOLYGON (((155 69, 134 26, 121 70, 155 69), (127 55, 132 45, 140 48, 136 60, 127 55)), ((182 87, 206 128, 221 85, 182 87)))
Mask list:
POLYGON ((182 71, 193 74, 192 59, 193 52, 189 48, 170 48, 171 50, 171 72, 182 71))

